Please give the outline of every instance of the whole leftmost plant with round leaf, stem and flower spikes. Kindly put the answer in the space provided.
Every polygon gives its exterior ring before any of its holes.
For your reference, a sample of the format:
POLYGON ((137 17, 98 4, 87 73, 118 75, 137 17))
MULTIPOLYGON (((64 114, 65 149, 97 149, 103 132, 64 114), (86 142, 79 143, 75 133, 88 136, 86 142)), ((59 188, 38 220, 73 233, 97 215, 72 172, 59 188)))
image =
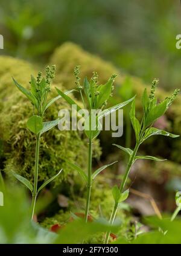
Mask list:
MULTIPOLYGON (((31 201, 31 210, 30 215, 31 219, 33 219, 34 208, 36 205, 37 194, 44 188, 49 182, 57 178, 62 170, 59 171, 55 176, 48 179, 45 183, 43 183, 39 188, 37 188, 38 176, 39 176, 39 147, 40 147, 40 136, 48 130, 52 129, 54 126, 57 126, 59 123, 59 118, 54 121, 43 122, 43 118, 45 116, 45 111, 54 103, 56 100, 61 98, 60 96, 56 98, 52 98, 51 100, 47 100, 48 94, 51 91, 51 80, 55 75, 55 66, 46 68, 46 77, 42 77, 42 73, 39 72, 37 77, 34 78, 31 75, 30 81, 30 90, 25 89, 23 86, 19 85, 16 80, 13 81, 17 88, 30 100, 33 105, 33 116, 30 117, 27 121, 28 129, 36 135, 36 153, 35 153, 35 166, 34 166, 34 185, 31 184, 26 178, 20 176, 17 173, 13 172, 13 175, 18 179, 22 184, 24 184, 32 194, 31 201)), ((68 91, 69 94, 72 91, 68 91)))

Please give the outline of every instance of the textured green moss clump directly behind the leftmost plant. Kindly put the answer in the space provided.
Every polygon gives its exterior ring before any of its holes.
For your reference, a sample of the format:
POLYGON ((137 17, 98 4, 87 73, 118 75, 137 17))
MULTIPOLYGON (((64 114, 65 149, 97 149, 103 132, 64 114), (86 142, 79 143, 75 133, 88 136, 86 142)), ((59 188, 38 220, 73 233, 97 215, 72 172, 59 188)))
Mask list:
MULTIPOLYGON (((58 111, 64 107, 69 106, 57 103, 50 107, 46 121, 56 119, 58 111)), ((20 95, 9 97, 0 114, 0 130, 4 141, 4 171, 16 171, 33 182, 36 139, 26 128, 31 112, 31 104, 25 98, 20 95)), ((86 167, 86 139, 82 139, 76 131, 60 132, 57 128, 49 130, 42 136, 40 143, 39 181, 49 179, 62 168, 62 174, 56 179, 56 183, 65 179, 67 173, 72 171, 65 162, 66 158, 86 167)))

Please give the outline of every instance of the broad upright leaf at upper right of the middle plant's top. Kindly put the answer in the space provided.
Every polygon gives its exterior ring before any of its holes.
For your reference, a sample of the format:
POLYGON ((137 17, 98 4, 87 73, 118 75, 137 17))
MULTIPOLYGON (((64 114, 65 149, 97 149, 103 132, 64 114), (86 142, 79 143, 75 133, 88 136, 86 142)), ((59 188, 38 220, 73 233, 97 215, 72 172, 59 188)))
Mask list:
POLYGON ((105 101, 108 100, 111 90, 112 90, 112 79, 109 79, 106 85, 99 86, 98 91, 100 92, 100 94, 97 96, 97 106, 96 106, 97 109, 101 107, 105 101))

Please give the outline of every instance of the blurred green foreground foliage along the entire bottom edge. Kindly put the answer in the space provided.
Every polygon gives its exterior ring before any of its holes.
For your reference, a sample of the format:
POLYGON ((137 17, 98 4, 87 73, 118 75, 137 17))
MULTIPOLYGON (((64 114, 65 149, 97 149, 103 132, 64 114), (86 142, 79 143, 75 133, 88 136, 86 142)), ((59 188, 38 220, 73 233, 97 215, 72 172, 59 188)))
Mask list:
MULTIPOLYGON (((50 232, 37 223, 30 222, 30 204, 22 188, 5 184, 4 206, 0 211, 0 243, 101 243, 109 228, 106 219, 98 218, 85 223, 79 217, 69 222, 60 222, 57 232, 50 232), (13 214, 12 214, 13 213, 13 214), (62 225, 63 224, 63 225, 62 225), (77 232, 78 231, 78 232, 77 232), (76 235, 75 235, 76 234, 76 235)), ((0 187, 2 190, 2 187, 0 187)), ((62 214, 62 220, 66 215, 62 214)), ((74 215, 72 215, 74 216, 74 215)), ((46 220, 47 223, 47 220, 46 220)), ((54 222, 56 223, 56 222, 54 222)), ((160 220, 157 217, 147 217, 144 225, 135 222, 127 224, 127 229, 119 232, 120 222, 112 226, 111 232, 116 240, 113 243, 180 243, 181 220, 177 217, 173 222, 170 216, 160 220), (144 229, 144 228, 149 228, 144 229)), ((52 224, 52 222, 51 222, 52 224)), ((45 225, 44 225, 45 226, 45 225)), ((122 223, 121 223, 122 226, 122 223)))

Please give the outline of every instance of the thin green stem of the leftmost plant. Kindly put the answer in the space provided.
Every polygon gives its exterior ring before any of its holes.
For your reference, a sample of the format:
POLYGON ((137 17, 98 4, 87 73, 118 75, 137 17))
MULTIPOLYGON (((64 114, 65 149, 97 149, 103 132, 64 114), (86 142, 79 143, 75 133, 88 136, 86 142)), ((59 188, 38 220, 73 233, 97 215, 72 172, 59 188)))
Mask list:
POLYGON ((37 181, 39 175, 39 147, 40 147, 40 134, 36 136, 36 153, 35 153, 35 165, 34 165, 34 186, 33 186, 33 196, 31 201, 31 210, 30 216, 31 220, 34 216, 34 208, 36 205, 36 197, 37 197, 37 181))

